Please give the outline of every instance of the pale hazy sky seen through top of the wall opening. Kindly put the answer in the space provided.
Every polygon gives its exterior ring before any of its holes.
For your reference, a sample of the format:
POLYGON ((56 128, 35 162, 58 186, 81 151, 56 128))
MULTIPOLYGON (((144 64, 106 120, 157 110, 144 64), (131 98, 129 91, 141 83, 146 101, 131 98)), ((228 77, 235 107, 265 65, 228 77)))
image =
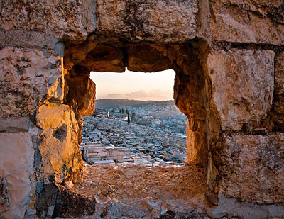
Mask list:
POLYGON ((91 72, 96 83, 96 99, 136 99, 163 101, 173 99, 175 72, 144 73, 91 72))

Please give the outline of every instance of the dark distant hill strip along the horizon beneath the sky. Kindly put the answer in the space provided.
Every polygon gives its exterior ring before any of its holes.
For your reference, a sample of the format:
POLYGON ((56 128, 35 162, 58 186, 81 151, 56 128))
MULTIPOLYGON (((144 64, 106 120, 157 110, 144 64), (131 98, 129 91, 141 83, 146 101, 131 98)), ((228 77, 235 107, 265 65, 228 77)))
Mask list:
POLYGON ((141 106, 151 103, 162 103, 173 101, 136 101, 128 99, 99 99, 96 100, 96 108, 113 108, 122 106, 141 106))

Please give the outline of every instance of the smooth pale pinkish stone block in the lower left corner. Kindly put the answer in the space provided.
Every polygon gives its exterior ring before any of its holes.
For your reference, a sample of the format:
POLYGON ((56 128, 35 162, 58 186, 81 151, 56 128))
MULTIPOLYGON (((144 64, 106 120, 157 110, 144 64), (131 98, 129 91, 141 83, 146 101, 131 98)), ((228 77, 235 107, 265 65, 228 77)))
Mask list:
POLYGON ((28 210, 33 174, 31 133, 0 133, 0 177, 6 181, 9 208, 0 218, 23 218, 28 210))

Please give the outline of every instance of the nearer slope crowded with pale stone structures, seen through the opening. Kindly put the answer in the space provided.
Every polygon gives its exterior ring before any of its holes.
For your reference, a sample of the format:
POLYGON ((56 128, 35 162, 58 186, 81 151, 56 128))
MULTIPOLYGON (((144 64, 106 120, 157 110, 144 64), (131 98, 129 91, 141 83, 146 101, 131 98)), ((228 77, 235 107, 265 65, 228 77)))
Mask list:
POLYGON ((143 165, 182 165, 186 157, 186 136, 127 121, 84 117, 83 159, 89 164, 135 162, 143 165))

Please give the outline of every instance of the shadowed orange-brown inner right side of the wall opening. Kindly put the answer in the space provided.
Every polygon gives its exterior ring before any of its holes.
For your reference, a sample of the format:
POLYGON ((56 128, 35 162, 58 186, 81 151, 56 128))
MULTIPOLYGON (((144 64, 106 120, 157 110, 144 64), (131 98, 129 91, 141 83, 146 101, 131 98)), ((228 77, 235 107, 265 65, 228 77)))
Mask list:
POLYGON ((200 51, 192 47, 171 47, 167 55, 178 64, 175 69, 175 105, 187 116, 187 163, 207 166, 207 126, 205 113, 205 78, 198 57, 200 51))

